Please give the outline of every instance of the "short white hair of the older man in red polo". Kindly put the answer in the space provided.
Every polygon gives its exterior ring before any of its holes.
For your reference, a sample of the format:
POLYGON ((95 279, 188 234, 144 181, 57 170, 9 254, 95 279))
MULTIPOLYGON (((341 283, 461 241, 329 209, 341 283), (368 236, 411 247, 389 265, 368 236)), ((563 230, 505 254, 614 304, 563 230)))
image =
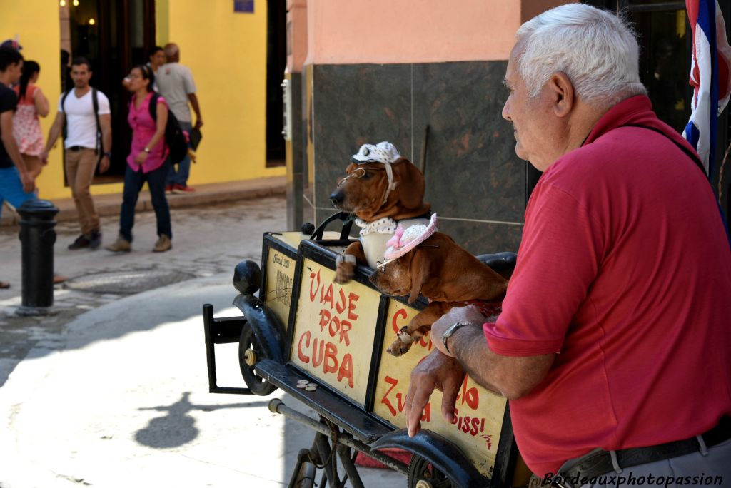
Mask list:
POLYGON ((647 94, 635 33, 611 12, 561 5, 524 23, 515 37, 516 71, 531 97, 556 72, 567 75, 577 96, 596 107, 647 94))

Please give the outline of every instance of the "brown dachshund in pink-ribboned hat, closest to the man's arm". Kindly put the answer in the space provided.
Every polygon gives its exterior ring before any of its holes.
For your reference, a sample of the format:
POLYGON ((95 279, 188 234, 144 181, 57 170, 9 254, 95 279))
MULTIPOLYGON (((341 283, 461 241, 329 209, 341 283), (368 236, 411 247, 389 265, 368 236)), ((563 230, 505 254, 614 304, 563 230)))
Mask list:
POLYGON ((409 303, 420 293, 429 299, 429 305, 401 329, 388 348, 394 356, 409 351, 451 308, 500 301, 507 290, 505 278, 442 232, 434 232, 404 256, 380 265, 370 280, 384 294, 409 295, 409 303))

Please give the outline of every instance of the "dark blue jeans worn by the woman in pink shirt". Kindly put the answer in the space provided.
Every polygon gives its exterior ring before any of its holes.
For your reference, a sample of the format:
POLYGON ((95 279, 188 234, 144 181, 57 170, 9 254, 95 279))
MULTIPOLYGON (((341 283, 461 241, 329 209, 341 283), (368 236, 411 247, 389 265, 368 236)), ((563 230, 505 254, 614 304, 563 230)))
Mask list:
POLYGON ((167 235, 173 238, 173 231, 170 229, 170 207, 167 206, 165 198, 165 175, 170 169, 170 161, 165 161, 161 167, 154 171, 143 173, 135 171, 129 164, 124 173, 124 191, 122 194, 122 210, 119 216, 119 235, 129 242, 132 242, 132 226, 135 225, 135 205, 137 197, 140 197, 140 190, 147 181, 152 198, 152 207, 155 209, 157 220, 157 235, 167 235))

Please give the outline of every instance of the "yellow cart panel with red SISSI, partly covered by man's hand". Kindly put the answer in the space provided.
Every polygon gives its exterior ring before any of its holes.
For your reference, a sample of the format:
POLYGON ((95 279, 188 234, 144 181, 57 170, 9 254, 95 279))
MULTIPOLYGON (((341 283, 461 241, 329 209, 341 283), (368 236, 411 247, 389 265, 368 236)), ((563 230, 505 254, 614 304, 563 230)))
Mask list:
MULTIPOLYGON (((397 427, 406 427, 404 404, 409 391, 411 372, 433 350, 430 335, 414 343, 401 357, 393 357, 386 349, 396 332, 414 318, 418 310, 390 300, 385 340, 376 384, 374 413, 397 427)), ((465 378, 457 397, 455 423, 442 416, 442 393, 434 390, 422 416, 422 427, 449 439, 474 462, 480 472, 492 476, 495 455, 502 429, 507 400, 488 392, 471 378, 465 378)))

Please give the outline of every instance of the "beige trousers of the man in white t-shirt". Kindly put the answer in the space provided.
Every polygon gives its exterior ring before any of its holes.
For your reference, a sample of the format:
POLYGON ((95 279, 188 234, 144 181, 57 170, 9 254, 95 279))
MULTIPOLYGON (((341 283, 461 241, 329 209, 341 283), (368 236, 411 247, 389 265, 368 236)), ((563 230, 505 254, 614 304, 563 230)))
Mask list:
POLYGON ((91 180, 94 179, 97 156, 94 149, 66 150, 66 182, 71 188, 71 194, 76 204, 79 224, 83 235, 98 232, 99 214, 94 208, 91 199, 91 180))

